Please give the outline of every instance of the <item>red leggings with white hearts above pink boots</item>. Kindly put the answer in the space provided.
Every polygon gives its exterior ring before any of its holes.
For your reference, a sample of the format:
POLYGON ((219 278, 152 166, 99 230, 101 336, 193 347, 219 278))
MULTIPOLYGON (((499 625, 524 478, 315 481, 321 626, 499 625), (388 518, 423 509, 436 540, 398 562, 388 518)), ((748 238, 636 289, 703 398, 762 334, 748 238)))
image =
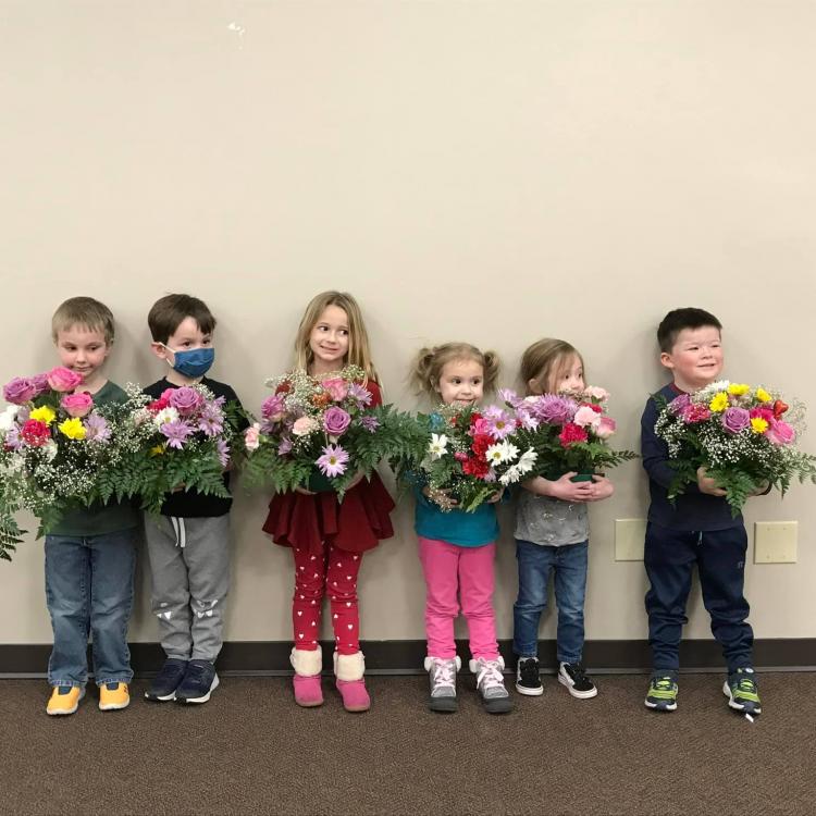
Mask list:
POLYGON ((331 544, 323 547, 322 556, 292 548, 295 555, 295 596, 292 599, 295 646, 306 652, 318 647, 320 613, 327 590, 335 647, 338 654, 354 655, 360 651, 357 573, 362 554, 347 553, 331 544))

